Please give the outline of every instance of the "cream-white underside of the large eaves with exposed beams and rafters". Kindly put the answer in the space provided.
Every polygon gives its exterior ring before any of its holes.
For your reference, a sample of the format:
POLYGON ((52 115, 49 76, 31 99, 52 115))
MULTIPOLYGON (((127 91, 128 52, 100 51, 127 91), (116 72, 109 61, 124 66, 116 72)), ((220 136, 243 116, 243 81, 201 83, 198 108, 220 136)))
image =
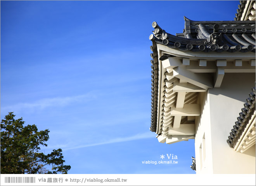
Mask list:
POLYGON ((162 68, 161 78, 158 78, 162 80, 158 85, 161 91, 158 90, 158 103, 155 105, 158 110, 155 132, 159 134, 157 139, 161 143, 171 144, 194 138, 195 119, 201 115, 199 92, 220 87, 225 73, 255 73, 255 57, 244 59, 241 55, 237 59, 231 57, 225 60, 214 57, 185 58, 169 55, 175 52, 160 50, 159 45, 155 49, 162 59, 158 59, 158 68, 162 68))

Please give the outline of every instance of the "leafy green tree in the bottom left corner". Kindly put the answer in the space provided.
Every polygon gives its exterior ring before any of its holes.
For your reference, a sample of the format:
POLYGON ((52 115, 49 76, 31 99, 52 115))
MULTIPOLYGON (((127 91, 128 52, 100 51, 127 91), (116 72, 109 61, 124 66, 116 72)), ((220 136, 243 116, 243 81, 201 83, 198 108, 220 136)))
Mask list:
POLYGON ((22 118, 14 117, 9 112, 1 121, 1 174, 67 174, 71 167, 63 165, 60 148, 47 155, 40 152, 39 146, 47 146, 49 130, 38 132, 35 125, 23 126, 22 118))

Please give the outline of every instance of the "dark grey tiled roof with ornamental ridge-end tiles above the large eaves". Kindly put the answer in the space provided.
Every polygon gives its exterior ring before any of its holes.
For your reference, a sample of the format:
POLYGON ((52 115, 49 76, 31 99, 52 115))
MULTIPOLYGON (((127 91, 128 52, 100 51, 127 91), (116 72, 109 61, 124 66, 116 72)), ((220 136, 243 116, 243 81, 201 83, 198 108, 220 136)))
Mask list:
POLYGON ((193 52, 255 52, 255 21, 192 21, 184 16, 185 30, 176 36, 153 22, 150 40, 193 52))

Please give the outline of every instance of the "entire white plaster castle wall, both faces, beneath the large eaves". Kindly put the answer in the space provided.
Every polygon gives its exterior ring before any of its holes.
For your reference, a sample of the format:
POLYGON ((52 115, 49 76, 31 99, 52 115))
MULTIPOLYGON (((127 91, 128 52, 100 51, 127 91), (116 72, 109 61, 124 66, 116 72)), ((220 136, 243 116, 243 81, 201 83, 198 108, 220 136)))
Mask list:
POLYGON ((197 174, 255 174, 255 145, 246 152, 239 153, 226 142, 254 81, 254 73, 226 73, 221 88, 199 93, 201 116, 195 119, 197 174), (203 135, 205 146, 202 143, 203 135), (202 155, 199 148, 201 144, 202 155))

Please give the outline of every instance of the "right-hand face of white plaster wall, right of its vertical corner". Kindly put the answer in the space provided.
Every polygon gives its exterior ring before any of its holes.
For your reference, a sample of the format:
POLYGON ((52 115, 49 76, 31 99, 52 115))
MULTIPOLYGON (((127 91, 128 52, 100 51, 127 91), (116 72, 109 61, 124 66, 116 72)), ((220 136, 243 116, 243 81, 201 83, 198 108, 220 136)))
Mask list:
POLYGON ((226 142, 254 81, 254 73, 226 73, 221 88, 208 91, 214 174, 255 174, 255 146, 239 153, 226 142))

